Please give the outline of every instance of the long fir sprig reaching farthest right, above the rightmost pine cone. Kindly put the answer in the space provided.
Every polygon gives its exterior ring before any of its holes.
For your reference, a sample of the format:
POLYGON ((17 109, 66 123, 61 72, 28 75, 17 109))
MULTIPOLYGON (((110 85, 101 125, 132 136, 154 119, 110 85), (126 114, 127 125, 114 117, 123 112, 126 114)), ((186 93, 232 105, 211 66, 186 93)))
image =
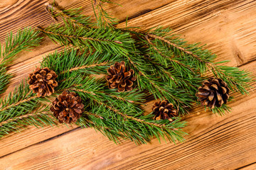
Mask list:
POLYGON ((201 74, 212 71, 215 77, 227 82, 233 91, 240 91, 241 94, 248 93, 247 89, 250 88, 249 83, 252 81, 252 75, 238 67, 218 65, 228 61, 214 62, 216 56, 208 50, 202 50, 203 46, 188 45, 183 39, 174 38, 176 35, 169 28, 156 28, 151 33, 147 33, 146 36, 154 39, 154 43, 159 45, 157 49, 166 47, 161 51, 174 52, 176 55, 173 56, 183 57, 183 61, 188 62, 187 64, 190 64, 191 68, 198 69, 201 74))

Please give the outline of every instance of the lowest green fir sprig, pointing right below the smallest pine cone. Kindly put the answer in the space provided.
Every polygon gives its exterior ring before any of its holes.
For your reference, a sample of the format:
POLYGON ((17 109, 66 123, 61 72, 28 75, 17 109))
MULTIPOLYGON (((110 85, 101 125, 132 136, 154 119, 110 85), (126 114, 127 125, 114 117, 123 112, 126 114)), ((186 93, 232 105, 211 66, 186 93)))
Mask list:
MULTIPOLYGON (((84 88, 79 87, 79 89, 84 88)), ((184 125, 183 123, 178 123, 179 119, 174 120, 174 124, 167 125, 166 121, 155 121, 151 120, 150 116, 142 116, 142 113, 137 113, 136 110, 134 110, 131 106, 120 106, 122 101, 115 100, 115 102, 113 102, 113 99, 105 96, 104 94, 102 94, 103 96, 101 96, 100 98, 97 98, 97 96, 95 95, 85 96, 82 94, 82 91, 77 91, 77 89, 74 89, 74 91, 79 93, 84 101, 88 101, 89 98, 90 100, 92 100, 92 102, 88 103, 88 107, 92 108, 91 112, 96 112, 97 115, 101 115, 102 118, 104 118, 104 120, 92 121, 99 126, 107 126, 107 128, 110 128, 114 131, 114 136, 109 134, 109 132, 105 132, 107 133, 107 135, 110 135, 110 140, 114 140, 115 142, 118 141, 117 138, 113 139, 112 137, 117 137, 119 132, 122 132, 122 135, 124 135, 122 138, 126 140, 132 140, 137 144, 149 142, 153 135, 156 135, 156 137, 159 138, 159 133, 162 133, 164 135, 170 135, 169 133, 171 133, 171 136, 173 138, 171 139, 171 137, 169 136, 167 136, 167 138, 169 138, 169 140, 172 142, 174 142, 175 140, 182 141, 181 136, 184 135, 184 133, 181 132, 181 130, 175 128, 177 126, 181 128, 184 125), (124 114, 123 112, 117 110, 115 106, 110 105, 117 105, 121 107, 122 111, 127 114, 124 114), (93 108, 96 108, 96 110, 94 110, 93 108), (105 121, 107 125, 105 123, 102 124, 102 121, 105 121)), ((98 94, 97 91, 93 91, 93 93, 98 94)))

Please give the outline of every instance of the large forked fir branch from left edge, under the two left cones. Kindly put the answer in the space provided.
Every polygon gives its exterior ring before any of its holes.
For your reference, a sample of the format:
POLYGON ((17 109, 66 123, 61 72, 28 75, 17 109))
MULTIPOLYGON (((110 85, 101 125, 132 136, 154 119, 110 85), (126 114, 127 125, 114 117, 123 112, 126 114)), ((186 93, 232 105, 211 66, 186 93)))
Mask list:
MULTIPOLYGON (((153 115, 144 115, 140 104, 144 103, 145 95, 141 91, 117 93, 108 89, 105 79, 90 77, 102 73, 104 67, 91 67, 92 64, 111 62, 110 54, 90 54, 80 50, 65 50, 46 56, 41 67, 54 66, 59 74, 59 85, 55 89, 58 95, 62 91, 75 91, 84 101, 85 113, 77 124, 82 127, 93 127, 104 135, 119 142, 129 139, 137 144, 146 143, 153 136, 166 137, 170 141, 183 141, 181 128, 185 125, 179 118, 166 125, 166 120, 152 120, 153 115), (92 69, 92 70, 90 70, 92 69)), ((106 69, 105 69, 106 73, 106 69)), ((14 92, 1 101, 0 129, 9 133, 21 129, 24 125, 55 125, 55 118, 48 113, 49 97, 41 98, 29 91, 28 84, 21 84, 14 92), (38 109, 43 108, 43 111, 38 109), (46 113, 46 114, 43 114, 46 113), (11 114, 11 115, 10 115, 11 114)), ((168 120, 169 121, 169 120, 168 120)))

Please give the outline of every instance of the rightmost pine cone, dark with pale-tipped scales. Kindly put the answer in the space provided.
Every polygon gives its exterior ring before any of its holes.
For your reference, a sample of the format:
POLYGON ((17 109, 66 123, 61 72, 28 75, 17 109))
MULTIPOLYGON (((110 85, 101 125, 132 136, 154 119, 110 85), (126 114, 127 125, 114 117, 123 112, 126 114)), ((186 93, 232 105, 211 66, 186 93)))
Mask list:
POLYGON ((209 108, 220 107, 227 103, 229 98, 228 85, 222 79, 210 78, 203 82, 203 86, 198 88, 196 96, 201 101, 202 106, 209 108))

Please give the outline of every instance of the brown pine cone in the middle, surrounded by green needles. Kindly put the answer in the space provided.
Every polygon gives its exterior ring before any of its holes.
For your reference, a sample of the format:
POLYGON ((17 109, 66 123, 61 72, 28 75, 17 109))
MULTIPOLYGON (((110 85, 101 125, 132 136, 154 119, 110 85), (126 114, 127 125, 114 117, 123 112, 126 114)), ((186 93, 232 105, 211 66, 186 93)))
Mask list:
POLYGON ((109 69, 107 69, 106 79, 110 89, 118 89, 119 92, 132 91, 133 81, 136 80, 134 77, 134 70, 130 69, 127 72, 125 62, 116 62, 109 69))

